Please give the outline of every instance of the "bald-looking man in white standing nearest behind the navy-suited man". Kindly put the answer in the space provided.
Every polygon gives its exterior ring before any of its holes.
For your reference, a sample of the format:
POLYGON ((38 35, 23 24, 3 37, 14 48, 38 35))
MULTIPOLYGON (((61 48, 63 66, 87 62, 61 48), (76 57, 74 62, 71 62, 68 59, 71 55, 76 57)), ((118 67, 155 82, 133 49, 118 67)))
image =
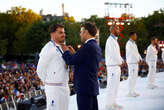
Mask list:
POLYGON ((110 27, 111 35, 108 37, 105 46, 105 63, 107 66, 107 89, 106 108, 117 110, 122 106, 116 103, 116 97, 120 85, 121 66, 125 64, 120 54, 120 47, 117 42, 120 30, 117 25, 110 27))

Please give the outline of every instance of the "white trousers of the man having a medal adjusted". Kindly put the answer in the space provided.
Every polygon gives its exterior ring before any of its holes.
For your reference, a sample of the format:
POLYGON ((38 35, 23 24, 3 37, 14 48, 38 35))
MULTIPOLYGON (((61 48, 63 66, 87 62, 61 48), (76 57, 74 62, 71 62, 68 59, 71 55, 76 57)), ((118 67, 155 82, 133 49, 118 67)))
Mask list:
POLYGON ((45 85, 47 110, 68 110, 69 87, 45 85))

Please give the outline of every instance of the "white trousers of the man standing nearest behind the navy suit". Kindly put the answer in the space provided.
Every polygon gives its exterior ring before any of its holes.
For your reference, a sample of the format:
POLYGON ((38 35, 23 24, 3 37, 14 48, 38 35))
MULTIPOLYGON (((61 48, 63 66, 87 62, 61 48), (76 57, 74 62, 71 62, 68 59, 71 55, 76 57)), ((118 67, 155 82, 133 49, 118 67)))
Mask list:
POLYGON ((116 103, 116 97, 120 85, 120 75, 120 66, 107 66, 107 88, 105 96, 106 106, 112 106, 116 103))

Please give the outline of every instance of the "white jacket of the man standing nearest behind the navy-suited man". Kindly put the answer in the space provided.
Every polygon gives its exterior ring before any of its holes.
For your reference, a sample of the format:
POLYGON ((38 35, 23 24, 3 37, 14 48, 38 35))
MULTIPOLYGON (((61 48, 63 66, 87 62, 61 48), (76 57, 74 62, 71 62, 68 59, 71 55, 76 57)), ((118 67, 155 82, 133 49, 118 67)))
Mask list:
POLYGON ((120 66, 123 59, 120 54, 120 46, 117 38, 110 35, 105 46, 105 63, 107 66, 120 66))

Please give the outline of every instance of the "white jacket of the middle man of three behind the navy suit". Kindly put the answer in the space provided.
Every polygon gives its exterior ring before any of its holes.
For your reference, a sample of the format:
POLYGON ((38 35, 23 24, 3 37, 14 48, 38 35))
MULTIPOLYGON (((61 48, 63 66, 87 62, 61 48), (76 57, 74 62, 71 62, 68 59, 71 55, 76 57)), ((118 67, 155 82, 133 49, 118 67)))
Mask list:
POLYGON ((129 39, 126 43, 126 62, 127 64, 138 64, 142 60, 135 41, 129 39))

